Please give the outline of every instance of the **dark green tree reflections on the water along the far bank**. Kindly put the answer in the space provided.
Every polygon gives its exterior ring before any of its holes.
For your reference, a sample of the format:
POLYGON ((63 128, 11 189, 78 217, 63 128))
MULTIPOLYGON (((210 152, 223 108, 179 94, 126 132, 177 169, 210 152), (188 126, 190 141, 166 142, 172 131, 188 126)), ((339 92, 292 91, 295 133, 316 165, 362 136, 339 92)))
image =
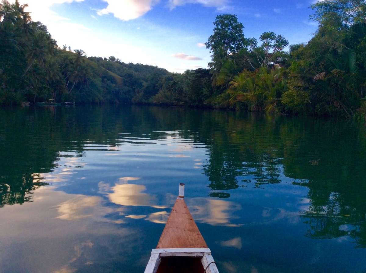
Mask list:
POLYGON ((172 131, 207 150, 210 197, 292 178, 309 188, 309 209, 299 212, 306 236, 349 236, 366 247, 366 130, 351 121, 139 106, 23 108, 0 109, 0 128, 0 206, 32 201, 31 192, 48 185, 37 174, 59 168, 61 152, 83 157, 88 141, 117 147, 121 132, 151 142, 172 131))

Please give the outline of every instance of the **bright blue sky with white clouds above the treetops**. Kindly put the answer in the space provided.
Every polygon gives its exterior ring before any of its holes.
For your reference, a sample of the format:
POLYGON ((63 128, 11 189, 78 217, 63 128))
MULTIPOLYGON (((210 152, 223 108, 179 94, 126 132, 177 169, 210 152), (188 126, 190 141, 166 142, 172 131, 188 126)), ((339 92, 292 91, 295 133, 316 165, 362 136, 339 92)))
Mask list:
POLYGON ((317 30, 309 20, 314 0, 19 0, 34 21, 48 27, 57 45, 87 56, 156 65, 171 72, 206 68, 203 43, 219 14, 236 14, 245 37, 265 31, 290 44, 307 42, 317 30))

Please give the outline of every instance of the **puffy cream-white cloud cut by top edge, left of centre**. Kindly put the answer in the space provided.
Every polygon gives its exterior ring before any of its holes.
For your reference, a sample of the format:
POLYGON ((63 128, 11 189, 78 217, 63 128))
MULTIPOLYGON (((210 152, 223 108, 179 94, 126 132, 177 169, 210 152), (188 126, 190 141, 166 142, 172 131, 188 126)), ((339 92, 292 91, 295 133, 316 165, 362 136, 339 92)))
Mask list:
POLYGON ((108 3, 107 8, 98 10, 98 15, 113 14, 116 18, 128 21, 136 19, 152 9, 159 0, 103 0, 108 3))

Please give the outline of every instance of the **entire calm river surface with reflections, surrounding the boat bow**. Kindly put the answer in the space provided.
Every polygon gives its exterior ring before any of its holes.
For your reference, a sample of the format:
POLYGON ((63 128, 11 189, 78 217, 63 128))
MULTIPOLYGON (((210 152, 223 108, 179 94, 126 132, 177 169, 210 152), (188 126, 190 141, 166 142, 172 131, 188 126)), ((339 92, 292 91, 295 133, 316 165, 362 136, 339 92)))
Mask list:
POLYGON ((366 130, 160 107, 0 109, 0 272, 143 272, 179 182, 220 273, 366 272, 366 130))

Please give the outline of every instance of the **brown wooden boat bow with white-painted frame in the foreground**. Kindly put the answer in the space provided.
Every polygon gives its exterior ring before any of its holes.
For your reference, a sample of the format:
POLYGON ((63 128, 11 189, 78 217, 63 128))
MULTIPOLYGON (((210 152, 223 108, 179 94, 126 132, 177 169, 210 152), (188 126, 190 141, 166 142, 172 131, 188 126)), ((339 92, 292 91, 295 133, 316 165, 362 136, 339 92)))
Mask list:
POLYGON ((145 269, 145 273, 170 272, 219 273, 184 202, 184 183, 179 184, 179 196, 145 269))

